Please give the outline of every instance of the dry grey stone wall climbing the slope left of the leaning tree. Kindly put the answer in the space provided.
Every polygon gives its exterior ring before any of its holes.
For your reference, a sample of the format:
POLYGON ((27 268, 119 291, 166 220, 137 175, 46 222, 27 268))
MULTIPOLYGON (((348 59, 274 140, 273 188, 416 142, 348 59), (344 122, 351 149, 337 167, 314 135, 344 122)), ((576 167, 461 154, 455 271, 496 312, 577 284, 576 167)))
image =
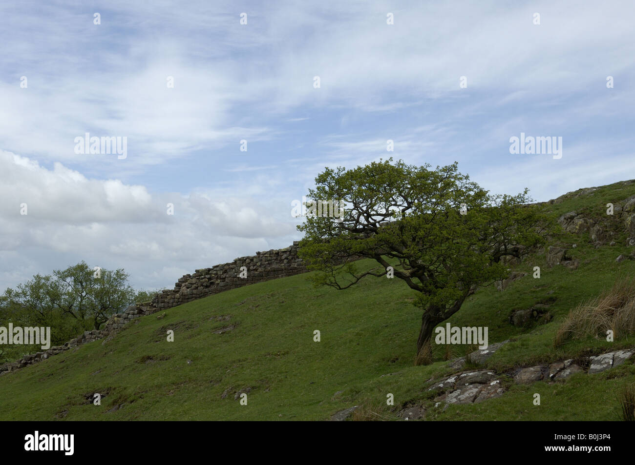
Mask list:
POLYGON ((307 268, 298 258, 298 242, 293 242, 293 245, 286 247, 286 249, 256 252, 255 256, 241 257, 231 263, 196 270, 193 274, 180 278, 173 290, 163 291, 156 294, 150 302, 131 305, 123 313, 112 315, 101 329, 86 331, 62 346, 54 346, 45 351, 29 354, 17 362, 0 365, 0 375, 40 362, 80 344, 97 341, 97 339, 104 337, 112 337, 135 318, 150 315, 164 308, 175 307, 192 300, 218 294, 218 292, 236 289, 236 287, 305 272, 307 272, 307 268), (240 277, 243 266, 246 278, 240 277))

